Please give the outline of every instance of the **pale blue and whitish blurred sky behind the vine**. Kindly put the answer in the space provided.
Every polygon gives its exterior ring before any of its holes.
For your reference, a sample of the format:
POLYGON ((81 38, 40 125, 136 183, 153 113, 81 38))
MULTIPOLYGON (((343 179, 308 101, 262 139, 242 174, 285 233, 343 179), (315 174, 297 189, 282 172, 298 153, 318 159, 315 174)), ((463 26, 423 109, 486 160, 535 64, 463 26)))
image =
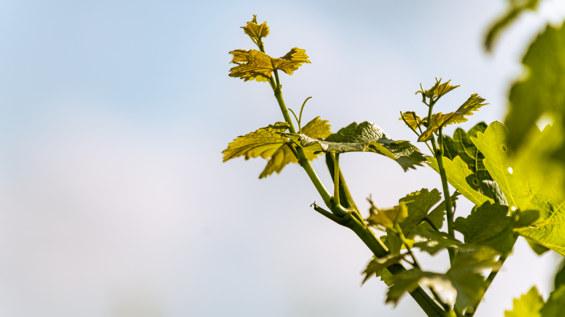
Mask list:
MULTIPOLYGON (((420 82, 461 85, 490 102, 462 127, 503 120, 521 57, 565 3, 546 0, 483 51, 505 1, 0 2, 0 316, 424 316, 386 285, 360 287, 371 252, 308 206, 321 200, 298 165, 258 179, 266 161, 221 162, 238 135, 282 121, 267 83, 228 77, 228 52, 251 49, 239 27, 258 15, 267 54, 306 49, 312 64, 281 83, 286 104, 333 131, 373 121, 415 135, 420 82)), ((449 126, 446 134, 453 133, 449 126)), ((423 148, 422 144, 418 144, 423 148)), ((431 168, 403 173, 352 153, 342 170, 359 208, 441 188, 431 168)), ((323 160, 314 168, 327 187, 323 160)), ((458 202, 457 215, 472 204, 458 202)), ((477 316, 503 316, 560 256, 523 239, 477 316)), ((562 257, 561 257, 562 258, 562 257)), ((447 269, 447 254, 424 268, 447 269)))

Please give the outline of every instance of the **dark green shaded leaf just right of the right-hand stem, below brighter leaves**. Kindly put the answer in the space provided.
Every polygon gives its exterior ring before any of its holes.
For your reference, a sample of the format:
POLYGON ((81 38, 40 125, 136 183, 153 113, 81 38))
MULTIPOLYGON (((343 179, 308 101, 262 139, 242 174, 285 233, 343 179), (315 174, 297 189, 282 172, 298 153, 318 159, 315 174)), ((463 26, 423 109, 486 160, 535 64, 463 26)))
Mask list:
POLYGON ((485 201, 479 208, 473 208, 467 218, 455 219, 454 229, 463 234, 465 243, 488 245, 509 253, 515 242, 514 223, 514 218, 508 215, 508 206, 485 201))

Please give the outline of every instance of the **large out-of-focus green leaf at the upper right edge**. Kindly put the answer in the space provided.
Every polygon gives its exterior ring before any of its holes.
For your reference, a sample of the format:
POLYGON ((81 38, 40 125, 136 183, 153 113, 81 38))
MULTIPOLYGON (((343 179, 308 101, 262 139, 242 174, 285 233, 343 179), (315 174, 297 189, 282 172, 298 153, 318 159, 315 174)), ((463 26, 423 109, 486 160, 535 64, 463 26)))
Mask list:
POLYGON ((522 63, 528 76, 512 86, 505 120, 511 148, 524 143, 544 113, 565 114, 565 28, 548 26, 529 47, 522 63))

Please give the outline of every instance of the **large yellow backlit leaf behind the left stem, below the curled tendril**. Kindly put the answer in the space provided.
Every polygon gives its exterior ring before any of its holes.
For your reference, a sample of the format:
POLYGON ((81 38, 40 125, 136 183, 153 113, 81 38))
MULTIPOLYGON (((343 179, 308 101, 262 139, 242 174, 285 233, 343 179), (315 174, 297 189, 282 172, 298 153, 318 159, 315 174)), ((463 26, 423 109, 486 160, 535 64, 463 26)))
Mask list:
MULTIPOLYGON (((316 117, 302 128, 302 132, 314 139, 324 139, 332 134, 329 129, 330 125, 327 120, 320 120, 320 117, 316 117)), ((286 130, 288 130, 286 122, 277 122, 275 125, 262 127, 255 132, 234 139, 222 151, 224 162, 240 156, 245 156, 246 160, 260 156, 266 158, 268 163, 259 178, 267 177, 275 171, 280 173, 286 164, 298 163, 292 145, 280 134, 286 130)), ((318 153, 309 151, 305 153, 308 160, 314 160, 319 156, 318 153)))

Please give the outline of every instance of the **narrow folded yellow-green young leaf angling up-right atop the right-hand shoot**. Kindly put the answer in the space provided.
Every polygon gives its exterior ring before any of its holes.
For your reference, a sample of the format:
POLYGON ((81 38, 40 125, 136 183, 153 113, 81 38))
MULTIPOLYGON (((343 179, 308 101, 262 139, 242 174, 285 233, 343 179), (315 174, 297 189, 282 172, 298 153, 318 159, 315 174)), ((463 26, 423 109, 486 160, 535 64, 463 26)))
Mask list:
POLYGON ((473 111, 479 110, 483 105, 488 103, 483 103, 484 98, 477 94, 472 94, 466 102, 464 102, 459 109, 455 112, 446 113, 445 115, 441 112, 435 113, 431 120, 429 120, 428 129, 424 131, 418 138, 418 142, 425 142, 432 139, 433 134, 436 133, 440 127, 444 127, 450 124, 459 124, 461 122, 467 121, 466 116, 471 116, 473 111))

